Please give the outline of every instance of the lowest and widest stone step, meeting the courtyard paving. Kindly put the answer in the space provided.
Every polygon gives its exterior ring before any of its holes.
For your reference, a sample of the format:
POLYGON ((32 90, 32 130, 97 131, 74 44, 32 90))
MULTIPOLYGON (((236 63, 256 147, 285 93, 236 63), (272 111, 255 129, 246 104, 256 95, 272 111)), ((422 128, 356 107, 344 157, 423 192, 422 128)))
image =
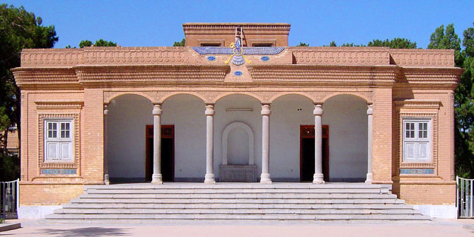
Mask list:
POLYGON ((50 214, 47 219, 428 220, 420 214, 50 214))

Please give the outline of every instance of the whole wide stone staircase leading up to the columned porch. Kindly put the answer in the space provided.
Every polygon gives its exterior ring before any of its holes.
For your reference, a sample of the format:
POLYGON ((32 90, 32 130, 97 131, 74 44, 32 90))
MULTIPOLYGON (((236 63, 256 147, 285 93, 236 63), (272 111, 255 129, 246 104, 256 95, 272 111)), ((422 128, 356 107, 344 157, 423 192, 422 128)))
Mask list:
POLYGON ((47 223, 429 221, 384 185, 165 183, 93 185, 47 223))

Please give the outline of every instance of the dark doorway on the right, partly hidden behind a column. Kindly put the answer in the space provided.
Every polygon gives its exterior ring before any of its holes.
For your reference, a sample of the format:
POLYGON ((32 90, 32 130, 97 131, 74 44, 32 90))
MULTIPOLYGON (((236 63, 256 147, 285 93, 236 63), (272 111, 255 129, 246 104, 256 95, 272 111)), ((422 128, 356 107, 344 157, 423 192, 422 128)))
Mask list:
MULTIPOLYGON (((314 175, 314 125, 300 126, 300 180, 312 182, 314 175)), ((329 181, 329 126, 323 125, 323 175, 329 181)))

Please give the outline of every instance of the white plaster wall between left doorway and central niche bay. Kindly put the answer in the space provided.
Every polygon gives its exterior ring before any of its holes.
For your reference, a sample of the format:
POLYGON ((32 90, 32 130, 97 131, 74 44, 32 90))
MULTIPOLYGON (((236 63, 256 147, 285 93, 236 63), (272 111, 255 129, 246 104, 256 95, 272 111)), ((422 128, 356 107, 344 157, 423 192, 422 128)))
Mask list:
POLYGON ((206 174, 206 115, 204 102, 180 94, 162 105, 162 125, 175 125, 175 178, 204 180, 206 174))

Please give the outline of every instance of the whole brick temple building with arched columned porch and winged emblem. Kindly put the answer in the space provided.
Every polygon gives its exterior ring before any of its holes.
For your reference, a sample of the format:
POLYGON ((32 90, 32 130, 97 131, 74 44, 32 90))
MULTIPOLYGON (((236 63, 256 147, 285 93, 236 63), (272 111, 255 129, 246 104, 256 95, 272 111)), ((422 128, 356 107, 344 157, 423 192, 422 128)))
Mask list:
POLYGON ((183 30, 185 47, 21 52, 21 207, 85 185, 308 182, 456 214, 453 50, 289 47, 287 23, 183 30))

